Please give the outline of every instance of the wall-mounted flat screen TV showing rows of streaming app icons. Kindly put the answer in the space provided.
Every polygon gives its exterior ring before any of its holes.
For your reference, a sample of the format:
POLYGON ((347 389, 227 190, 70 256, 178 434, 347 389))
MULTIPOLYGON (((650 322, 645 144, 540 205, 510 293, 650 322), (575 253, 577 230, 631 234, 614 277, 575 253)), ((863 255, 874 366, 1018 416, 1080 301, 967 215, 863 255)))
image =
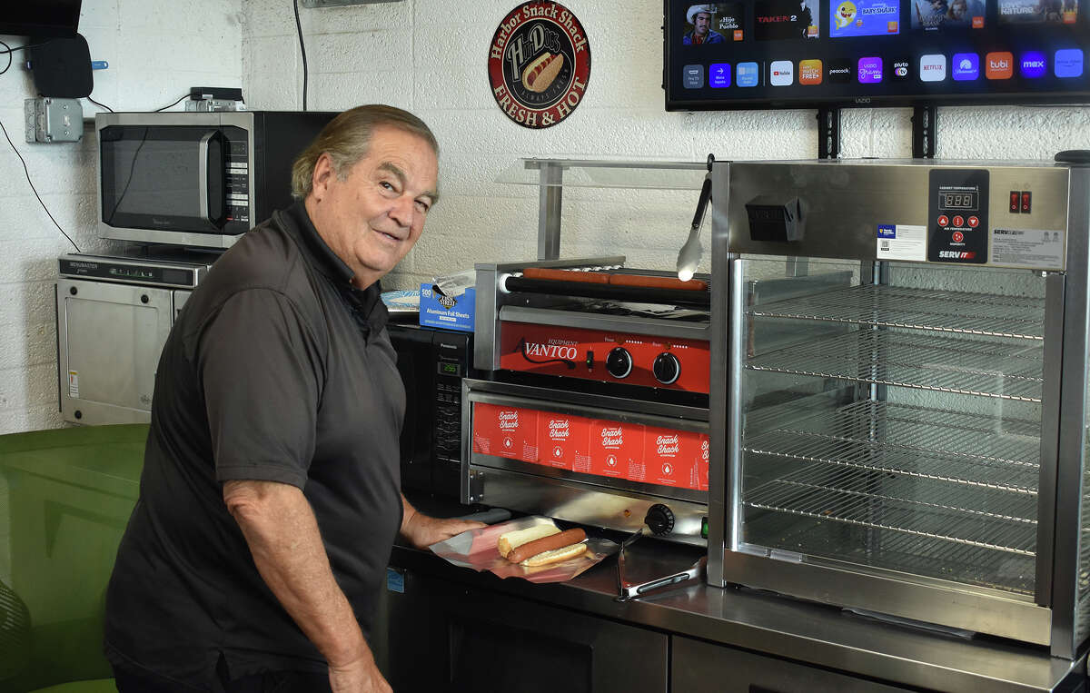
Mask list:
POLYGON ((1090 0, 665 0, 666 110, 1090 102, 1090 0))

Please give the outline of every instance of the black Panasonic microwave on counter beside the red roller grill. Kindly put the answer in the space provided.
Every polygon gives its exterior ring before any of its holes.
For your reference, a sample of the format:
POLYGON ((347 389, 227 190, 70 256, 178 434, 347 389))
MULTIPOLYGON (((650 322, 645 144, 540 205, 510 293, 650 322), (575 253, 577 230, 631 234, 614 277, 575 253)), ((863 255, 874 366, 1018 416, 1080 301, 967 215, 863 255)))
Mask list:
POLYGON ((401 488, 457 499, 462 471, 462 378, 473 377, 473 335, 390 324, 405 386, 401 488))

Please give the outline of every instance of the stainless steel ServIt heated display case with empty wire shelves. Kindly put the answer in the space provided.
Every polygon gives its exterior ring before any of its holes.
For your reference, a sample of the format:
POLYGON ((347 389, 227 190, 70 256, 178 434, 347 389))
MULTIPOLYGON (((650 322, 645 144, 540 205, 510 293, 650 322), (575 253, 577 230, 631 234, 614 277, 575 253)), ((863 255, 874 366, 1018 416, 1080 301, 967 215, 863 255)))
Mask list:
POLYGON ((710 582, 1076 654, 1088 191, 1063 163, 715 165, 710 582))

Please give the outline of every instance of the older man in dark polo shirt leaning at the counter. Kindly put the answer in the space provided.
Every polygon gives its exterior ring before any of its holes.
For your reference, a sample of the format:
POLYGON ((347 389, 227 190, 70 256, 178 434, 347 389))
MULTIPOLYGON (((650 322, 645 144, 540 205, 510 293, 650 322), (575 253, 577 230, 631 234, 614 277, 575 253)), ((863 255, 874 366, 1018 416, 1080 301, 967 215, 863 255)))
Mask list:
POLYGON ((302 202, 186 302, 107 594, 120 691, 389 691, 366 635, 396 534, 424 547, 480 526, 399 490, 404 390, 378 279, 420 238, 437 177, 417 118, 346 111, 295 161, 302 202))

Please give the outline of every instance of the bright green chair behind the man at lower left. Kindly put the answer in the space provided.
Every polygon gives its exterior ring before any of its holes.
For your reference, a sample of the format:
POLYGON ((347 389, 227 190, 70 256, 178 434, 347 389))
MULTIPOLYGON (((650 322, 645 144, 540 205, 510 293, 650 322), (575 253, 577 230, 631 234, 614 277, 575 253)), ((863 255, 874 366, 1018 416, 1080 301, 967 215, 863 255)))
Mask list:
POLYGON ((146 425, 0 436, 0 693, 117 690, 106 584, 146 438, 146 425))

